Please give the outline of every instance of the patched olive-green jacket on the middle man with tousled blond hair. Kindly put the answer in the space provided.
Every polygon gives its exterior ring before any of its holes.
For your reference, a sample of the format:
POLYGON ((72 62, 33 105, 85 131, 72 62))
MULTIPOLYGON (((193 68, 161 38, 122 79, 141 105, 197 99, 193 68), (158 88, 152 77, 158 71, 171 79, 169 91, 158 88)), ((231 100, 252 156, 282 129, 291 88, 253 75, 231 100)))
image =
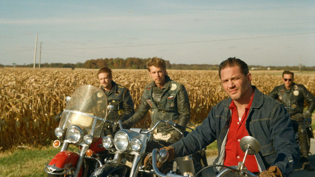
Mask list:
MULTIPOLYGON (((184 127, 187 125, 187 122, 190 119, 190 104, 187 91, 182 84, 171 80, 169 76, 166 75, 165 79, 166 82, 163 86, 163 94, 161 95, 159 105, 153 101, 152 91, 155 86, 153 81, 145 87, 141 96, 141 104, 135 114, 124 122, 126 125, 130 127, 138 123, 146 116, 150 108, 152 108, 152 117, 170 120, 184 127)), ((151 119, 151 127, 153 127, 159 120, 155 118, 151 119)), ((161 133, 174 131, 174 128, 164 123, 160 123, 157 126, 157 129, 158 132, 161 133)))

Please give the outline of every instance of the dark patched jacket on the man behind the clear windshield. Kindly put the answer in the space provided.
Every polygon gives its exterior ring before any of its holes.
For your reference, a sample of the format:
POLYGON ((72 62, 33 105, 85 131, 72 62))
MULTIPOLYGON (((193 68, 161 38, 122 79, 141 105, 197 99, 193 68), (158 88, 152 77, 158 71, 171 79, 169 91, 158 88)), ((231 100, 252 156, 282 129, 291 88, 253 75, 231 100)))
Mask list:
MULTIPOLYGON (((106 94, 107 105, 114 106, 114 110, 107 115, 106 120, 113 122, 118 120, 125 121, 135 113, 134 102, 132 101, 129 90, 126 87, 112 81, 111 91, 105 91, 103 86, 101 86, 101 89, 106 94)), ((109 124, 106 123, 104 129, 108 129, 112 133, 112 127, 110 127, 109 124)), ((107 131, 106 133, 108 134, 107 131)))

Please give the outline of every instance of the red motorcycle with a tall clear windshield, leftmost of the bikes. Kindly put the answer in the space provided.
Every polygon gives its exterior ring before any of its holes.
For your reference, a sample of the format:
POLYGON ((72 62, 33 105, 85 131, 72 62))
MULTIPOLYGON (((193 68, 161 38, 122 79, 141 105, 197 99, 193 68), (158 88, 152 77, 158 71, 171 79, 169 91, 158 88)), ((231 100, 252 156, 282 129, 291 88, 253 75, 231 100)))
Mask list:
POLYGON ((103 165, 102 161, 111 158, 100 138, 104 123, 113 124, 106 120, 110 106, 107 107, 105 93, 91 85, 78 87, 66 98, 66 108, 54 130, 58 140, 53 146, 61 149, 44 168, 48 177, 89 176, 103 165), (79 147, 78 152, 69 151, 69 145, 79 147))

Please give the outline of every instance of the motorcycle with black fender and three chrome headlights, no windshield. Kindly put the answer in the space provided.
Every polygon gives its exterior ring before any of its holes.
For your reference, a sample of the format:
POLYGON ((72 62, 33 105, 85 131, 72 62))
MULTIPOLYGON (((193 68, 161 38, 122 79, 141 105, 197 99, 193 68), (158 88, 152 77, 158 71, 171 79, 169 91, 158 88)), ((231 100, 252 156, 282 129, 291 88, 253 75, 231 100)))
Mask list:
MULTIPOLYGON (((107 161, 102 167, 95 170, 91 177, 107 177, 107 176, 155 176, 151 167, 145 168, 143 160, 147 154, 152 152, 155 148, 162 148, 166 146, 165 141, 154 140, 151 132, 160 123, 166 123, 173 127, 176 131, 185 130, 186 127, 180 126, 167 120, 161 120, 152 127, 150 130, 131 128, 130 130, 123 129, 121 121, 119 122, 120 129, 115 134, 114 138, 111 136, 105 136, 103 138, 103 147, 110 152, 115 153, 112 161, 107 161), (131 167, 126 164, 119 163, 122 158, 125 157, 130 162, 131 167)), ((173 163, 165 164, 161 167, 162 171, 168 171, 169 169, 177 170, 177 166, 173 163)))

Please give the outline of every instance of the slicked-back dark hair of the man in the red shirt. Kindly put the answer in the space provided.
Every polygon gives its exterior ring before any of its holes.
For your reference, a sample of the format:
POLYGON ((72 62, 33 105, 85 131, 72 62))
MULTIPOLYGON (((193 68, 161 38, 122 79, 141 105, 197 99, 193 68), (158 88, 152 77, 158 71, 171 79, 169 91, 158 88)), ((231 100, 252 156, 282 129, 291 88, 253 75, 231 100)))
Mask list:
POLYGON ((226 68, 226 67, 233 67, 233 66, 238 66, 238 68, 241 70, 241 72, 246 76, 249 73, 248 66, 247 64, 242 61, 241 59, 231 57, 227 58, 221 64, 219 65, 219 77, 221 79, 221 70, 226 68))

